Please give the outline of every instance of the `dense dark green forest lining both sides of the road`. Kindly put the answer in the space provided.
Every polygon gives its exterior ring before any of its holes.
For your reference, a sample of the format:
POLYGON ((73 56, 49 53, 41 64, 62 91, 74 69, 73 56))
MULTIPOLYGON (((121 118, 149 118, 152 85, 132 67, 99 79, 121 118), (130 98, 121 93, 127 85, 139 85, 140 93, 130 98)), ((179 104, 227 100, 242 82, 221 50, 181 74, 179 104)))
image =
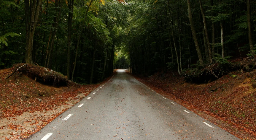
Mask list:
POLYGON ((256 50, 251 0, 3 0, 0 16, 0 69, 34 64, 81 84, 128 67, 182 75, 256 50))

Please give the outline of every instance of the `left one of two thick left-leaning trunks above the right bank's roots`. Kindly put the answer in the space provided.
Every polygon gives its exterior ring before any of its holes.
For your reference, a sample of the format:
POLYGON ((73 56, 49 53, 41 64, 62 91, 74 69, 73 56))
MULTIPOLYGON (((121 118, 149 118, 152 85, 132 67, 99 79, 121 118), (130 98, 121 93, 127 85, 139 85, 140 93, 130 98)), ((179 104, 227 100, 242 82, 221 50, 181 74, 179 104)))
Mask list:
POLYGON ((187 7, 188 7, 187 11, 188 11, 188 17, 189 17, 191 32, 192 32, 193 39, 194 39, 194 42, 195 42, 195 49, 197 51, 200 66, 203 66, 203 58, 202 58, 202 54, 201 54, 201 51, 200 51, 200 48, 199 48, 199 45, 198 45, 198 41, 197 41, 197 38, 196 38, 195 25, 194 25, 194 22, 193 22, 193 19, 192 19, 190 0, 187 0, 187 7))

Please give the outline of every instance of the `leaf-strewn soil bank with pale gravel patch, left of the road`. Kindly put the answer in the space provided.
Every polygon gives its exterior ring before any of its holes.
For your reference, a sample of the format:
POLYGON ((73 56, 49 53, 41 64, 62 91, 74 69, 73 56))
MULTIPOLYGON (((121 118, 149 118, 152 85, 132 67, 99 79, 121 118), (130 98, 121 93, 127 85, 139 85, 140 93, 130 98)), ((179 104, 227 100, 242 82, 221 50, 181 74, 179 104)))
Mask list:
POLYGON ((0 139, 26 139, 100 85, 68 81, 67 86, 56 87, 25 74, 16 76, 17 85, 14 76, 5 79, 13 70, 0 70, 0 139))

